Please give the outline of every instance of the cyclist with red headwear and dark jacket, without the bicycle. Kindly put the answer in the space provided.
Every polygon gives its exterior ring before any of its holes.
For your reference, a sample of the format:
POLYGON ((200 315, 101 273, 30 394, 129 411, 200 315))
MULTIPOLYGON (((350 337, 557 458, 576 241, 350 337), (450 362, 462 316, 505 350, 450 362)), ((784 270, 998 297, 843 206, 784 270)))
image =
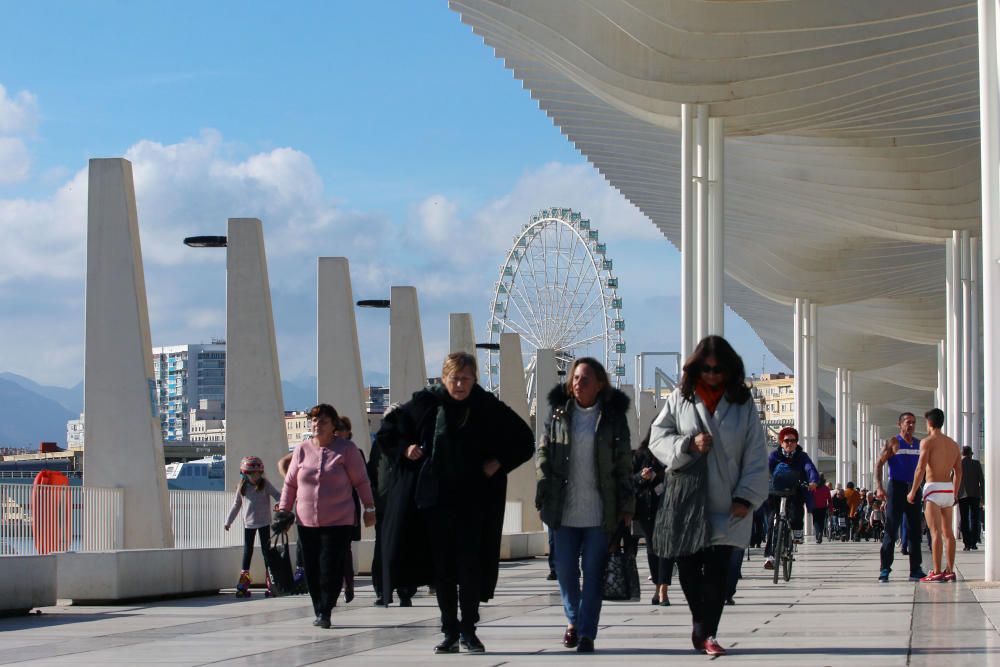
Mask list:
MULTIPOLYGON (((802 526, 805 523, 805 492, 803 482, 808 482, 812 491, 819 484, 819 471, 813 465, 812 459, 799 446, 799 432, 792 426, 786 426, 778 433, 778 448, 771 452, 767 459, 771 470, 771 488, 774 491, 768 496, 767 502, 772 512, 778 512, 781 507, 781 496, 789 495, 786 505, 788 522, 792 526, 792 536, 796 544, 802 543, 802 526), (784 493, 782 493, 784 492, 784 493)), ((767 545, 764 547, 764 567, 774 569, 774 522, 768 526, 767 545)))

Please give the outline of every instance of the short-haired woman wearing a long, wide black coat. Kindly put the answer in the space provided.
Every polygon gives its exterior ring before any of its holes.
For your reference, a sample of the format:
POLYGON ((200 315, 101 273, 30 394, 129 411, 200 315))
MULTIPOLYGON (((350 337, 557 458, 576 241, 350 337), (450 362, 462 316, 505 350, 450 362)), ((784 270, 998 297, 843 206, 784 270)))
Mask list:
POLYGON ((534 453, 531 428, 477 377, 474 356, 449 354, 443 384, 415 393, 377 436, 395 470, 382 529, 383 591, 426 583, 430 556, 444 633, 436 653, 459 644, 485 650, 476 623, 499 575, 507 474, 534 453))

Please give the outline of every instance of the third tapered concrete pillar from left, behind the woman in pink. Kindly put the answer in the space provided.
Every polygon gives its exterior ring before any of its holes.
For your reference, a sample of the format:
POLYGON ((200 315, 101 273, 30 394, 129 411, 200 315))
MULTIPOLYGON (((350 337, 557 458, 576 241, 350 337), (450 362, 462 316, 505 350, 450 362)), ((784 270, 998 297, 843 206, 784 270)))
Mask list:
POLYGON ((316 294, 316 399, 318 403, 329 403, 351 420, 354 444, 367 457, 371 434, 351 268, 346 257, 318 258, 316 294))

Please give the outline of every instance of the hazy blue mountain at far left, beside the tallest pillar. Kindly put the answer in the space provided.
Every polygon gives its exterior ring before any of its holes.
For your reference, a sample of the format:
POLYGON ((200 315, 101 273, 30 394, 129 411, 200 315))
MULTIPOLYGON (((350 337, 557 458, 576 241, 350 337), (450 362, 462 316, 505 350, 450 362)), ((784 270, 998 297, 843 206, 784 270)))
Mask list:
POLYGON ((66 422, 79 417, 79 411, 0 377, 0 446, 35 450, 46 441, 65 447, 66 422))

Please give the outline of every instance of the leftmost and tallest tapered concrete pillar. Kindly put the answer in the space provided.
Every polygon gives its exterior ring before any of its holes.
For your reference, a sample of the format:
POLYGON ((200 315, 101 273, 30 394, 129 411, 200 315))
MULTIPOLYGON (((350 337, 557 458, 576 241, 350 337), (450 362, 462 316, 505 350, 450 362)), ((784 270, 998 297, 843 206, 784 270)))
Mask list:
POLYGON ((128 160, 90 161, 86 291, 84 484, 124 489, 123 548, 172 547, 139 218, 128 160))

